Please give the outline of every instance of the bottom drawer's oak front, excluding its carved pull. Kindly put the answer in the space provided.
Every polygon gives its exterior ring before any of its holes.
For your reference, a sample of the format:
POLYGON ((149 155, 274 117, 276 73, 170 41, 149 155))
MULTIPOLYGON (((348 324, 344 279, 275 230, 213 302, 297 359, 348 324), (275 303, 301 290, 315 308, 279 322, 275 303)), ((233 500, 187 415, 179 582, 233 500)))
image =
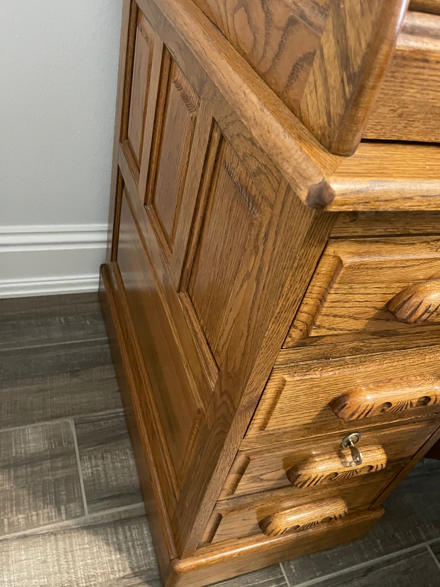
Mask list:
MULTIPOLYGON (((401 463, 391 464, 376 475, 350 478, 345 483, 322 485, 300 490, 284 487, 229 500, 218 501, 209 519, 202 539, 203 544, 243 538, 262 533, 261 524, 268 516, 298 508, 304 514, 312 513, 319 505, 330 500, 343 500, 351 514, 365 510, 387 487, 402 468, 401 463)), ((330 512, 328 512, 330 517, 330 512)), ((313 520, 311 520, 313 522, 313 520)), ((315 520, 317 522, 318 519, 315 520)), ((331 523, 331 522, 329 522, 331 523)), ((312 524, 313 525, 313 524, 312 524)))

